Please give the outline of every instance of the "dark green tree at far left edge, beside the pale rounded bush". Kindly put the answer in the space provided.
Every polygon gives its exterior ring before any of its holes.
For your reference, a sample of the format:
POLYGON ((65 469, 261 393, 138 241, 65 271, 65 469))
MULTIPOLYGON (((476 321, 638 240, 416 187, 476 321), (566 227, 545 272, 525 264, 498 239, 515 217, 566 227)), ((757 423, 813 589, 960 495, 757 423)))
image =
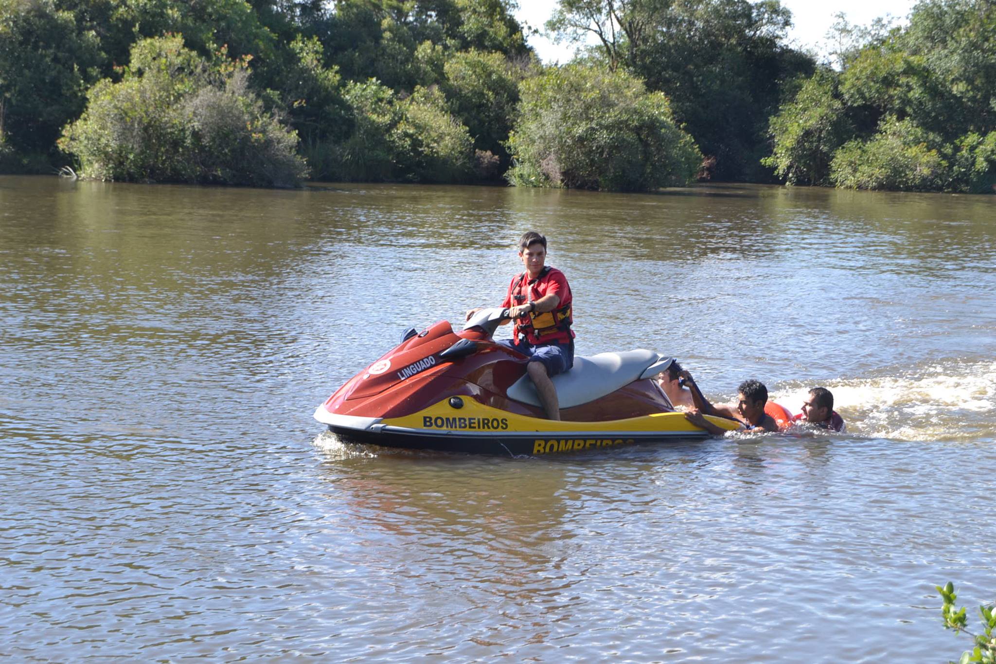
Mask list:
POLYGON ((51 0, 0 0, 0 143, 10 166, 53 150, 101 62, 96 35, 78 31, 71 12, 51 0))

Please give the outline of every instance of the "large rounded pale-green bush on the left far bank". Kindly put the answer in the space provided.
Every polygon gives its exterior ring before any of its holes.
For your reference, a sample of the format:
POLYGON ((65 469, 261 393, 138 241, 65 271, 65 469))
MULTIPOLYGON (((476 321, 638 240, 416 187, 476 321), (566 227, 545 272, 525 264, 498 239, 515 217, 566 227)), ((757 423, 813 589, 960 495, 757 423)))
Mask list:
POLYGON ((293 186, 307 174, 297 134, 247 87, 243 62, 209 63, 179 36, 131 50, 122 81, 98 82, 61 144, 105 180, 293 186))

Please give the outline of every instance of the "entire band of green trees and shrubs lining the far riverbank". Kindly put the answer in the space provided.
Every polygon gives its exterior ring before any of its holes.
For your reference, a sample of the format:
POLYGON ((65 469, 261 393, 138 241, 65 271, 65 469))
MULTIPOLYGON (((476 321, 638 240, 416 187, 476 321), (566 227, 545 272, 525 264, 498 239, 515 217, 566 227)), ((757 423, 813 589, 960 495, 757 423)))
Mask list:
POLYGON ((996 5, 924 0, 839 70, 778 0, 560 0, 565 66, 511 0, 0 0, 0 172, 645 190, 696 174, 996 185, 996 5))

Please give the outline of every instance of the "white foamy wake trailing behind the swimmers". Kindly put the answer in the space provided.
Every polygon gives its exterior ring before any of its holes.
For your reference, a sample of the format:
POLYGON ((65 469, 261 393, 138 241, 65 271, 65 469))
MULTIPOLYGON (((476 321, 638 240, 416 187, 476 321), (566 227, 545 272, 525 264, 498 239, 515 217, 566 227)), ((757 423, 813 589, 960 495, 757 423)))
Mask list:
MULTIPOLYGON (((900 440, 996 434, 996 361, 939 361, 882 373, 821 383, 834 393, 849 433, 900 440)), ((771 398, 800 412, 813 386, 790 384, 771 398)))

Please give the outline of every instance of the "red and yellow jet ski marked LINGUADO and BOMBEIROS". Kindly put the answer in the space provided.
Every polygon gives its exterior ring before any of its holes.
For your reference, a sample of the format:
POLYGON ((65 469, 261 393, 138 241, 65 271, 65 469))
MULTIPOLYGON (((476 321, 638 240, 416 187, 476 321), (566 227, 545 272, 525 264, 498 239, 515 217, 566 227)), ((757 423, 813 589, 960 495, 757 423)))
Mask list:
POLYGON ((445 321, 405 330, 315 419, 347 442, 512 456, 708 436, 674 411, 652 379, 673 358, 641 348, 576 356, 571 370, 552 378, 562 419, 547 419, 527 356, 492 338, 508 320, 507 309, 482 309, 459 332, 445 321))

